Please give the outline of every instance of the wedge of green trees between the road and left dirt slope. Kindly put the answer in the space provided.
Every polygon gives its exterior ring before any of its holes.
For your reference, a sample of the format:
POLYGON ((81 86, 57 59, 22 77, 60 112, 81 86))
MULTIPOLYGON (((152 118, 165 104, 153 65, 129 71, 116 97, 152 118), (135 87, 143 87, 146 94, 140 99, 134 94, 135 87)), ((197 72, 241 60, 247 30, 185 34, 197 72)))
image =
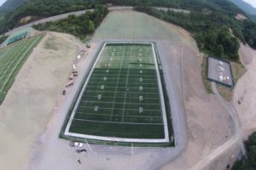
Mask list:
POLYGON ((46 22, 34 27, 40 31, 59 31, 73 34, 84 40, 87 35, 95 31, 107 14, 108 8, 98 5, 94 12, 87 12, 80 16, 69 15, 67 19, 46 22))

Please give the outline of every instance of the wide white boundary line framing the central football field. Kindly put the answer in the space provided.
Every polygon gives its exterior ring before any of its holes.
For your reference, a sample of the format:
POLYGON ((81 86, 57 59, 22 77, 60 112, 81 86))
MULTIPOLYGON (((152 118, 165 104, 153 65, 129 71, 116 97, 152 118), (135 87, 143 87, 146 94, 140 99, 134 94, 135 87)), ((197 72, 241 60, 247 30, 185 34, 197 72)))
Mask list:
MULTIPOLYGON (((106 44, 111 44, 111 43, 129 43, 129 42, 105 42, 100 53, 97 55, 97 59, 94 62, 94 65, 92 66, 92 68, 90 69, 90 73, 88 75, 88 77, 86 78, 85 82, 84 82, 84 86, 79 94, 79 98, 77 99, 75 105, 74 105, 74 109, 72 112, 72 115, 70 116, 68 122, 67 122, 67 127, 65 129, 64 134, 67 136, 73 136, 73 137, 78 137, 78 138, 82 138, 82 139, 96 139, 96 140, 107 140, 107 141, 117 141, 117 142, 134 142, 134 143, 166 143, 169 142, 169 134, 168 134, 168 127, 167 127, 167 120, 166 120, 166 108, 164 107, 164 111, 165 113, 163 115, 165 115, 164 119, 164 128, 165 128, 165 139, 130 139, 130 138, 114 138, 114 137, 103 137, 103 136, 96 136, 96 135, 88 135, 88 134, 81 134, 81 133, 70 133, 69 129, 71 127, 71 124, 73 122, 73 118, 75 115, 75 112, 78 109, 78 105, 79 105, 79 101, 82 98, 83 94, 84 94, 84 90, 86 88, 86 85, 88 84, 90 77, 92 75, 92 72, 94 71, 94 68, 96 66, 96 63, 98 61, 98 59, 100 58, 100 56, 102 55, 102 51, 105 48, 106 44), (166 131, 167 130, 167 131, 166 131)), ((154 44, 152 42, 131 42, 131 43, 136 43, 136 44, 151 44, 151 47, 153 48, 154 51, 154 44)), ((157 59, 156 59, 156 55, 155 55, 155 51, 154 51, 154 61, 155 61, 155 66, 156 66, 156 70, 157 70, 157 74, 158 74, 158 82, 161 85, 160 82, 160 73, 159 73, 159 67, 157 64, 157 59)), ((160 88, 162 89, 162 87, 160 86, 160 88)), ((163 92, 161 91, 161 101, 164 102, 163 100, 163 92)), ((162 107, 165 106, 165 104, 161 105, 162 107)))

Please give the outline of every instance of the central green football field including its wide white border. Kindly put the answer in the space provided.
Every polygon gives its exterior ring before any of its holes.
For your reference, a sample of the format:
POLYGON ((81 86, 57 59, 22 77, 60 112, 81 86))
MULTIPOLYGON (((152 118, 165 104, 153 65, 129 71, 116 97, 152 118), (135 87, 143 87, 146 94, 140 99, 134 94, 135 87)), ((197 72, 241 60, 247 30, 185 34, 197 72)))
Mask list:
POLYGON ((105 42, 71 108, 64 135, 169 143, 154 43, 105 42))

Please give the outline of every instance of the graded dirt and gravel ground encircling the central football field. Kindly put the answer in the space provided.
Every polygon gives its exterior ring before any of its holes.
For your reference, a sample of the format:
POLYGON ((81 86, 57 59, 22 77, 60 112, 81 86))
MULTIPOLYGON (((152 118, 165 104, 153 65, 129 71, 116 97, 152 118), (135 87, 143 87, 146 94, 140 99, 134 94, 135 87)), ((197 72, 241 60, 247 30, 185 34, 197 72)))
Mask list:
MULTIPOLYGON (((78 88, 80 76, 74 87, 70 88, 67 97, 59 98, 55 105, 47 129, 34 144, 32 159, 27 169, 136 170, 162 167, 166 170, 219 170, 225 169, 228 163, 236 160, 239 147, 234 137, 233 122, 218 97, 207 94, 201 80, 202 57, 187 31, 147 14, 127 10, 113 11, 92 37, 92 48, 86 57, 79 61, 79 71, 82 74, 88 69, 96 48, 104 40, 157 42, 167 84, 172 84, 175 90, 176 98, 173 100, 177 99, 179 105, 184 105, 184 113, 183 109, 180 109, 183 117, 179 118, 183 118, 187 126, 175 128, 178 132, 177 139, 178 135, 188 139, 188 143, 177 140, 177 146, 184 144, 184 148, 181 148, 183 153, 179 154, 176 148, 131 150, 93 144, 84 144, 86 153, 76 153, 76 149, 70 148, 66 140, 58 139, 58 135, 66 116, 67 104, 73 99, 72 95, 78 88), (79 164, 78 160, 82 163, 79 164)), ((172 99, 172 96, 170 98, 172 99)))

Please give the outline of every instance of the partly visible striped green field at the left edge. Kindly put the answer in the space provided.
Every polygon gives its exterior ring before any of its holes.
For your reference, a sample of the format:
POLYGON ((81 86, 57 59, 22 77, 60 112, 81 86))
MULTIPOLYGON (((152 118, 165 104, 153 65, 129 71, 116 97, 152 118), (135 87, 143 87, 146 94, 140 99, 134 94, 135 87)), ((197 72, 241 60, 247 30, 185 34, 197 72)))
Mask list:
POLYGON ((0 105, 9 88, 15 82, 15 77, 21 66, 43 37, 44 35, 31 37, 0 50, 0 105))

